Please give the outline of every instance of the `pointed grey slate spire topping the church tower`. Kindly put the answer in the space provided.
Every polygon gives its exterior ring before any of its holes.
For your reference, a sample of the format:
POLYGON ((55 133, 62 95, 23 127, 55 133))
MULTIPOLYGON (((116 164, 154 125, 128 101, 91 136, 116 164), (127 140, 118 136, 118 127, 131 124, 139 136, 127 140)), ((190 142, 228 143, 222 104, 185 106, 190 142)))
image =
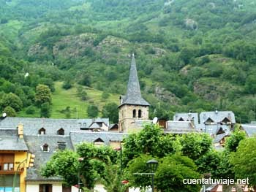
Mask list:
POLYGON ((132 105, 143 105, 149 106, 148 102, 142 98, 140 93, 140 82, 138 79, 138 73, 135 64, 135 57, 132 54, 132 64, 129 71, 129 82, 127 85, 127 95, 122 96, 121 107, 124 104, 132 104, 132 105))

